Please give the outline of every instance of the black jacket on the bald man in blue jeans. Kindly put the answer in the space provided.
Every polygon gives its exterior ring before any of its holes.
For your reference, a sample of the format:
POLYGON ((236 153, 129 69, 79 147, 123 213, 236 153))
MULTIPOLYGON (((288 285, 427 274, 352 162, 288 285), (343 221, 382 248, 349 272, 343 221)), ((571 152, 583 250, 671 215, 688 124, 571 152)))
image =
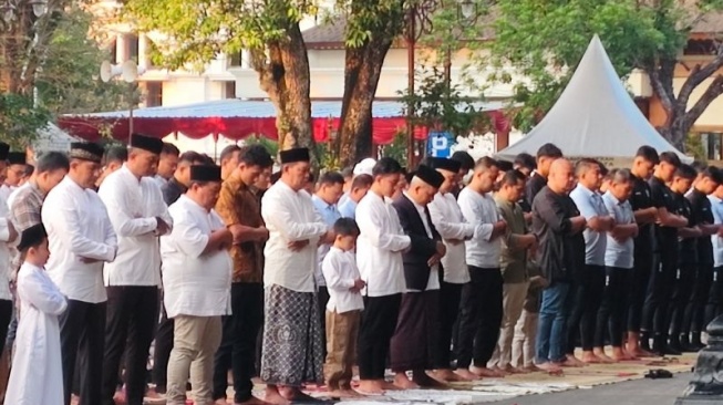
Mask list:
POLYGON ((533 232, 539 239, 537 261, 543 276, 554 281, 572 281, 585 269, 585 237, 572 231, 570 218, 580 211, 567 194, 556 194, 547 186, 533 201, 533 232))

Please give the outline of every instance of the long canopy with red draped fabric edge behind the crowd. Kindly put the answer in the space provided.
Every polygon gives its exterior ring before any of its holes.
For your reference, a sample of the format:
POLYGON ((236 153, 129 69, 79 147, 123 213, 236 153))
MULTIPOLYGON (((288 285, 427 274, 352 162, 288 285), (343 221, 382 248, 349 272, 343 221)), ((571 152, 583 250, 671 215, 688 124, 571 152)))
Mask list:
MULTIPOLYGON (((393 101, 376 101, 372 105, 373 141, 378 145, 389 144, 397 131, 405 128, 405 105, 393 101)), ((508 123, 502 114, 500 102, 476 103, 475 108, 486 112, 495 126, 506 128, 508 123)), ((339 128, 341 101, 311 102, 311 118, 314 139, 324 142, 330 132, 339 128)), ((126 139, 130 132, 130 112, 118 111, 86 115, 64 115, 59 126, 69 133, 95 141, 101 129, 111 127, 113 136, 126 139)), ((224 135, 230 139, 242 139, 249 135, 264 135, 276 139, 276 110, 270 101, 244 101, 228 98, 179 106, 159 106, 133 111, 133 131, 159 138, 182 133, 192 138, 208 135, 224 135)), ((426 138, 425 128, 415 129, 417 139, 426 138)))

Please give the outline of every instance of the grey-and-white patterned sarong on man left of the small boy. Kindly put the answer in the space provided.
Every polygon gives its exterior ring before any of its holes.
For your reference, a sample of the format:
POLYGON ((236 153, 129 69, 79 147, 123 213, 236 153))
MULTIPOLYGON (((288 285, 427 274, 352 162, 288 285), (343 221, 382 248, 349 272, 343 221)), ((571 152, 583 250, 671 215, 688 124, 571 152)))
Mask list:
POLYGON ((317 294, 281 285, 265 289, 261 380, 300 386, 323 382, 321 325, 317 294))

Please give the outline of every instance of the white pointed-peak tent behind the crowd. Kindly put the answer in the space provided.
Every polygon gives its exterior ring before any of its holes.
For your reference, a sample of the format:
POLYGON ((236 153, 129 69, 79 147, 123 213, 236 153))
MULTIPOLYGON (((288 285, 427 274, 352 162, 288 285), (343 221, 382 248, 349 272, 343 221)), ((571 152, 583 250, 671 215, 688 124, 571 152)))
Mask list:
POLYGON ((545 118, 497 156, 505 159, 520 153, 534 156, 548 142, 570 157, 626 159, 632 158, 640 146, 650 145, 659 153, 671 150, 685 162, 692 160, 668 143, 642 115, 598 35, 545 118))

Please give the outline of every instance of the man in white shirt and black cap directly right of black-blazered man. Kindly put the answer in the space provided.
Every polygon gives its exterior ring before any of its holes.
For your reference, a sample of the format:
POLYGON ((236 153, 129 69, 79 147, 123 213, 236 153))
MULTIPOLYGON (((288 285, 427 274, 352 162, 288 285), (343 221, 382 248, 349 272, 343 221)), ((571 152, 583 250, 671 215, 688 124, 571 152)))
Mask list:
POLYGON ((462 164, 445 158, 431 158, 428 165, 444 176, 440 193, 427 205, 432 224, 442 237, 447 253, 442 258, 443 278, 440 287, 440 336, 435 353, 434 376, 441 381, 459 381, 459 375, 452 372, 452 333, 459 313, 462 287, 469 282, 469 270, 465 262, 464 241, 475 233, 475 226, 462 216, 457 200, 452 190, 457 185, 462 164))

